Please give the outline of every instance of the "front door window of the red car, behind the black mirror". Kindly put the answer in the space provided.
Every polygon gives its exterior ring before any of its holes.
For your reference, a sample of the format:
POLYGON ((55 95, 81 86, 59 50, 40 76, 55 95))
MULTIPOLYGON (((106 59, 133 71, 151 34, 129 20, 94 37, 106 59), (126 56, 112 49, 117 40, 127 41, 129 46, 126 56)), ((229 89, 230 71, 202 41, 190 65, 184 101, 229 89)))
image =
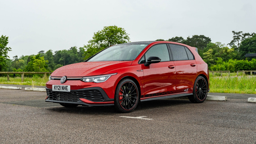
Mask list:
POLYGON ((166 44, 157 44, 152 46, 145 54, 146 60, 149 57, 159 57, 161 61, 170 61, 170 55, 166 44))

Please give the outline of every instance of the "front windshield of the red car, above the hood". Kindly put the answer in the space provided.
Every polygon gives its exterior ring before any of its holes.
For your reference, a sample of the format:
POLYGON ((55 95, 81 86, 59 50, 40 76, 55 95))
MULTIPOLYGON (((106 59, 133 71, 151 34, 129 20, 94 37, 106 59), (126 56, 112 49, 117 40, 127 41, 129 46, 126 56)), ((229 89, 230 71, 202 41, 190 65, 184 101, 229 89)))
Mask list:
POLYGON ((147 45, 148 44, 124 44, 111 46, 92 57, 88 62, 135 60, 147 45))

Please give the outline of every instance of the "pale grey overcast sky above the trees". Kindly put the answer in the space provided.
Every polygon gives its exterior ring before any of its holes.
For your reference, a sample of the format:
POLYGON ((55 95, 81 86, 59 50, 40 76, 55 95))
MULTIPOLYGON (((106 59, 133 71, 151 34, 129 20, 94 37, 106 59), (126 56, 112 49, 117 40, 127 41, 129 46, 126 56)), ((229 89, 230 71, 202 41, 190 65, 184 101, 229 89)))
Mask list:
POLYGON ((256 32, 256 0, 1 0, 0 35, 10 58, 83 47, 104 26, 124 28, 131 42, 210 37, 228 44, 232 30, 256 32))

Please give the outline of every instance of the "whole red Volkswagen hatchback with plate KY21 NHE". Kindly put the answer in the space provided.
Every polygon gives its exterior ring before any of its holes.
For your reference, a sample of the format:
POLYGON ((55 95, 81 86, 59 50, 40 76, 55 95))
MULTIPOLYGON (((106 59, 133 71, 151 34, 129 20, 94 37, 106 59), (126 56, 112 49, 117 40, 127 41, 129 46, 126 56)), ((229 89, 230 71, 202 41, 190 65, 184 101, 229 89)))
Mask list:
POLYGON ((202 103, 209 89, 208 66, 197 48, 167 41, 108 47, 81 63, 56 69, 45 101, 64 107, 110 106, 132 112, 139 101, 188 96, 202 103))

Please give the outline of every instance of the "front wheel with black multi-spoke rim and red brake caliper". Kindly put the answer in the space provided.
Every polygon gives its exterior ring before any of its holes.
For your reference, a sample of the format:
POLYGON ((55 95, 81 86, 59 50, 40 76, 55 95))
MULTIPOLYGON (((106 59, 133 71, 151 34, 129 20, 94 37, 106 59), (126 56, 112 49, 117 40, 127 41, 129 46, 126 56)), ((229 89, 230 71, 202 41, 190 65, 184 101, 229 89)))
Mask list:
POLYGON ((116 86, 115 92, 115 108, 119 112, 130 113, 138 105, 139 89, 131 79, 121 80, 116 86))

